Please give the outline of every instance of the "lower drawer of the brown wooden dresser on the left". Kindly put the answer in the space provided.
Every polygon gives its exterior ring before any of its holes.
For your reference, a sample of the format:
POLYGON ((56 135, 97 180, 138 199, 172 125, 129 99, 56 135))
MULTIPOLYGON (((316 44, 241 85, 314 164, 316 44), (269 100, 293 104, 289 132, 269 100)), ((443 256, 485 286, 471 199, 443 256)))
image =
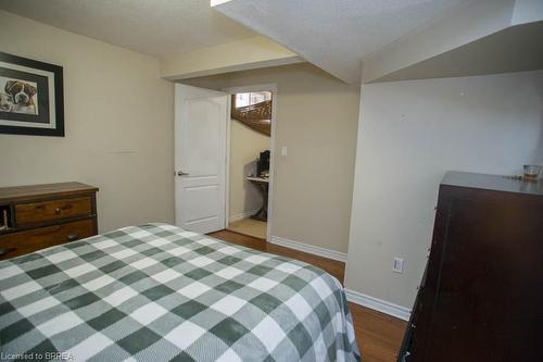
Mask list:
POLYGON ((94 235, 93 220, 84 220, 0 235, 0 260, 94 235))

